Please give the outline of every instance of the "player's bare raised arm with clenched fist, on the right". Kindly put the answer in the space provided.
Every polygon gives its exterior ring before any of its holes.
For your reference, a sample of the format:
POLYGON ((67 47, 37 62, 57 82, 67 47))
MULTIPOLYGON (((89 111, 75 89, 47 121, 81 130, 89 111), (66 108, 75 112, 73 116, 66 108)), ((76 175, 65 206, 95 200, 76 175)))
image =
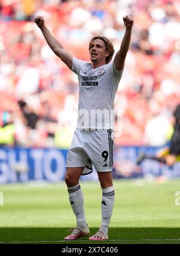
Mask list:
POLYGON ((124 25, 126 26, 125 34, 121 42, 121 47, 116 53, 114 62, 116 70, 122 70, 124 68, 124 61, 130 47, 131 31, 134 20, 128 16, 123 17, 124 25))

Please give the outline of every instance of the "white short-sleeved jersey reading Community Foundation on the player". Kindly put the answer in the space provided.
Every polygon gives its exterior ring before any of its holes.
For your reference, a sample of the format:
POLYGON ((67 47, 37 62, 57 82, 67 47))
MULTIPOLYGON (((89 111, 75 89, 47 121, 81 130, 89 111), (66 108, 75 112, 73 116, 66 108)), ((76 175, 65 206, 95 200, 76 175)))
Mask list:
POLYGON ((96 69, 73 58, 72 71, 79 79, 78 129, 111 129, 114 124, 114 99, 122 72, 111 61, 96 69))

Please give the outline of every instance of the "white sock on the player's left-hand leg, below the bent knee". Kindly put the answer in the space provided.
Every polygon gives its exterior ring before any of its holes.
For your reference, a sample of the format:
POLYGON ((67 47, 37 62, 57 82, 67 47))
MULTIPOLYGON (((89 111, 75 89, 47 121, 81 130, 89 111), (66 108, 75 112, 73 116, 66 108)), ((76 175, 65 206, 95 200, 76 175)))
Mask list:
POLYGON ((80 184, 73 187, 67 187, 69 200, 74 214, 76 215, 77 227, 86 227, 84 199, 80 184))

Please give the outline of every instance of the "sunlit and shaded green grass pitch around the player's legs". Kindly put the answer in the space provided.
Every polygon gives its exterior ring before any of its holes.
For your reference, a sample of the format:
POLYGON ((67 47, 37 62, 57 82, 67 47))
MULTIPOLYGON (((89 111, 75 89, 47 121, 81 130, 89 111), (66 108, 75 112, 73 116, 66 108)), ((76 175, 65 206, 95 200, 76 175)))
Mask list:
MULTIPOLYGON (((101 223, 100 184, 80 184, 86 220, 93 234, 101 223)), ((175 205, 180 180, 115 180, 114 187, 109 241, 93 243, 180 243, 180 206, 175 205)), ((63 182, 5 184, 0 191, 4 194, 4 206, 0 206, 0 243, 92 243, 87 237, 63 241, 68 228, 76 226, 63 182)))

